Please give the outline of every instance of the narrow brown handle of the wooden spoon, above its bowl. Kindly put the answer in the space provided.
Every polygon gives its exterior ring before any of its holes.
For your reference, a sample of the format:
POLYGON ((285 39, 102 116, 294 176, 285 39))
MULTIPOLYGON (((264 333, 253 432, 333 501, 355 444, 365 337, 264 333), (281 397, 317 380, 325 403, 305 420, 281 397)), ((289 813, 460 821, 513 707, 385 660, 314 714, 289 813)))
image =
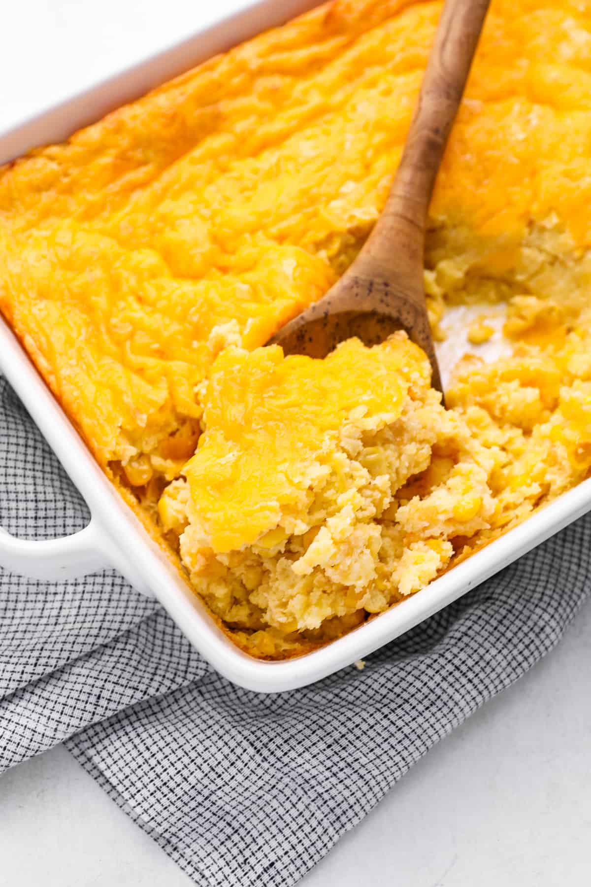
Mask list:
POLYGON ((423 297, 424 230, 490 0, 446 0, 400 165, 363 253, 423 297))

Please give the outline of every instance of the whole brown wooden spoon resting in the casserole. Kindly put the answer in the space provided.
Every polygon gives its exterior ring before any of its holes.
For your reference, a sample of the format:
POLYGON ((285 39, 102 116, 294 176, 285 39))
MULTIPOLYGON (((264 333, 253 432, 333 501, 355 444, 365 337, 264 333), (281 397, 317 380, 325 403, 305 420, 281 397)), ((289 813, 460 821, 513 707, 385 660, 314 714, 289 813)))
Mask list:
POLYGON ((403 329, 426 352, 432 385, 443 393, 424 299, 424 233, 433 184, 488 4, 446 0, 385 208, 334 287, 273 337, 271 343, 283 346, 285 354, 326 357, 351 336, 373 345, 403 329))

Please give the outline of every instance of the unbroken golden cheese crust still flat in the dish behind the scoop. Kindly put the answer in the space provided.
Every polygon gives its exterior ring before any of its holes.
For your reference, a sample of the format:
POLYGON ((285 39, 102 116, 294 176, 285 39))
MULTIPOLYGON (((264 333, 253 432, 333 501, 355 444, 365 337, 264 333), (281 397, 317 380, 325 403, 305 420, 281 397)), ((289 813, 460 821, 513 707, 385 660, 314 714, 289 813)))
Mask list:
MULTIPOLYGON (((492 4, 432 207, 438 226, 502 237, 481 262, 497 274, 532 219, 590 234, 590 13, 518 6, 492 4)), ((354 255, 439 8, 321 7, 4 169, 0 306, 130 483, 190 455, 215 327, 262 344, 354 255)))

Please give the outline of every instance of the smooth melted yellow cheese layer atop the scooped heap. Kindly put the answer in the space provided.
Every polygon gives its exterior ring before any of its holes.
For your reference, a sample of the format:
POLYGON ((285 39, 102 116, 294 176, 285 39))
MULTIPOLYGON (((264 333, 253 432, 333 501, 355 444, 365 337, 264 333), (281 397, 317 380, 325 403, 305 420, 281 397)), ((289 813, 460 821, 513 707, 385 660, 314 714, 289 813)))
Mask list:
POLYGON ((424 354, 410 342, 368 352, 350 340, 324 361, 284 358, 278 345, 226 349, 208 382, 207 434, 183 468, 215 551, 274 530, 306 496, 310 466, 351 413, 395 421, 416 375, 427 383, 424 354))

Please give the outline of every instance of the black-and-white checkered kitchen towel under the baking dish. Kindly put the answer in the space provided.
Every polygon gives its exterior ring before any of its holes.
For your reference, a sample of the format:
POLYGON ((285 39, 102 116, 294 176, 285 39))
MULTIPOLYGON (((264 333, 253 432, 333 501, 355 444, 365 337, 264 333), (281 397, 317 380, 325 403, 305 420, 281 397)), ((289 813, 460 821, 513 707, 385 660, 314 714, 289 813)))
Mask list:
MULTIPOLYGON (((0 380, 0 522, 52 537, 80 497, 0 380)), ((314 687, 233 687, 113 572, 0 577, 0 769, 66 741, 199 885, 296 883, 425 751, 559 640, 591 515, 314 687)))

